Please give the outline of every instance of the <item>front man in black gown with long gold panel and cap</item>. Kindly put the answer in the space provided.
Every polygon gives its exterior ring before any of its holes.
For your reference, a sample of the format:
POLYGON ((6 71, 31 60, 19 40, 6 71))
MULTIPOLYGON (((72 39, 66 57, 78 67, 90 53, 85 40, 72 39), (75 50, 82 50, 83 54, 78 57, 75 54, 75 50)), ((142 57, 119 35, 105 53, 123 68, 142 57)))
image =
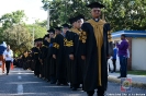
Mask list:
POLYGON ((81 26, 81 58, 86 60, 83 91, 87 92, 88 96, 93 96, 94 89, 98 89, 98 96, 104 96, 108 87, 106 61, 108 57, 111 56, 109 50, 113 49, 109 46, 112 45, 110 24, 100 19, 103 4, 92 2, 87 7, 91 8, 92 19, 81 26))

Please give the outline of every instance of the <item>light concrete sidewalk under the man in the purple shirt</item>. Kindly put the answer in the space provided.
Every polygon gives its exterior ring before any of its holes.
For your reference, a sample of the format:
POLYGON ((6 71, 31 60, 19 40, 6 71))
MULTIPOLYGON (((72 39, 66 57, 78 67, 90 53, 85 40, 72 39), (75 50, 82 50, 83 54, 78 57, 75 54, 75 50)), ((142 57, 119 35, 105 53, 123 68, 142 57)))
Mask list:
MULTIPOLYGON (((121 80, 117 79, 120 73, 109 73, 109 81, 120 83, 121 80)), ((132 85, 134 87, 146 88, 146 75, 134 75, 127 74, 127 77, 132 79, 132 85)))

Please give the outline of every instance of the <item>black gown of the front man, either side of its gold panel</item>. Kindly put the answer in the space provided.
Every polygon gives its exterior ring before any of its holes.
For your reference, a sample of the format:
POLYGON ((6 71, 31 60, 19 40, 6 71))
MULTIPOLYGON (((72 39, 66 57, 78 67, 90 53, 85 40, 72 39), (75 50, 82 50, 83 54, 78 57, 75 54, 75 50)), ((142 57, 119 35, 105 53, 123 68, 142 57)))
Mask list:
MULTIPOLYGON (((86 67, 83 76, 83 89, 94 91, 99 87, 98 85, 98 47, 97 39, 94 36, 94 29, 90 23, 83 23, 81 26, 83 33, 87 35, 87 39, 81 44, 81 55, 86 56, 86 67), (85 43, 86 41, 86 43, 85 43)), ((108 64, 106 57, 109 56, 109 41, 108 41, 108 31, 110 31, 110 25, 103 25, 103 45, 101 48, 101 86, 102 91, 106 91, 108 86, 108 64)), ((85 35, 85 34, 83 34, 85 35)))

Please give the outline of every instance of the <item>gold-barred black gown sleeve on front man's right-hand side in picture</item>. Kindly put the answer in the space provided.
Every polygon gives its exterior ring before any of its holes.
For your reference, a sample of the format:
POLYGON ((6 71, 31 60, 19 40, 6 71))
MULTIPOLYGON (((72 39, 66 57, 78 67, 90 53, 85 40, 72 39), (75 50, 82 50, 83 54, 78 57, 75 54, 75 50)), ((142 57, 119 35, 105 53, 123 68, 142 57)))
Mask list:
POLYGON ((111 32, 110 32, 111 28, 110 28, 110 24, 109 23, 106 23, 104 25, 104 29, 105 29, 105 32, 108 32, 106 56, 112 56, 113 55, 113 43, 112 43, 112 35, 111 35, 111 32))

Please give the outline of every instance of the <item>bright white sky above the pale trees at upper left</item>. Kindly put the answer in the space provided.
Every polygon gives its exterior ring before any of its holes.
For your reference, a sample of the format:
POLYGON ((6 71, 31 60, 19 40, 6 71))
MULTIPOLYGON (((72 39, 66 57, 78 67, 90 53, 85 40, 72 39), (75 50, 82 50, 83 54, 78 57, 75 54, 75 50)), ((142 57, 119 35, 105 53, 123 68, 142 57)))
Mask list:
POLYGON ((29 17, 26 23, 32 24, 35 20, 47 19, 47 12, 41 7, 43 7, 42 0, 0 0, 0 17, 5 13, 24 10, 29 17))

